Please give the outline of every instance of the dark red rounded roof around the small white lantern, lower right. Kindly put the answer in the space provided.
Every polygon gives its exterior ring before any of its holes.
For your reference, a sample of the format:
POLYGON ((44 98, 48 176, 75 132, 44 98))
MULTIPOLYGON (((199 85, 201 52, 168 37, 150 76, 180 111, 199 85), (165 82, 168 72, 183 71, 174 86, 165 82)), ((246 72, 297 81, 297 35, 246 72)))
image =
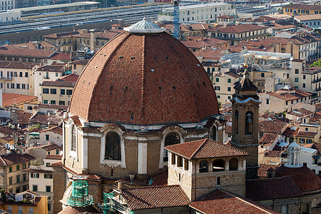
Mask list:
POLYGON ((289 168, 281 165, 275 169, 275 177, 290 176, 302 192, 321 189, 321 180, 310 168, 289 168))

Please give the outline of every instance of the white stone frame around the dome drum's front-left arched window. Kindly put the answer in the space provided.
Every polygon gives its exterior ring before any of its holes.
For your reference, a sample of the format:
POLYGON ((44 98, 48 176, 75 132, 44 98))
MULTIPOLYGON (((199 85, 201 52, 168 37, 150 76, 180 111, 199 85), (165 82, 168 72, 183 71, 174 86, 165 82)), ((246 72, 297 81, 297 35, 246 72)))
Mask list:
POLYGON ((121 166, 121 168, 126 168, 126 157, 125 157, 125 137, 123 136, 123 131, 120 128, 106 128, 101 136, 101 157, 100 163, 103 165, 108 165, 111 168, 116 168, 121 166), (118 133, 119 137, 121 138, 121 161, 114 161, 114 160, 106 160, 105 159, 105 148, 106 148, 106 135, 109 132, 116 132, 118 133))

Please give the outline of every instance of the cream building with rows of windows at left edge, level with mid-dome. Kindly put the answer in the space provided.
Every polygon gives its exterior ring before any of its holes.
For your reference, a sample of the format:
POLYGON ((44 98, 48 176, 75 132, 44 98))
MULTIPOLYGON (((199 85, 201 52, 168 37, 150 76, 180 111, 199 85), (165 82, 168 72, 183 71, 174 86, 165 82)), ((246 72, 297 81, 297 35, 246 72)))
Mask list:
POLYGON ((0 61, 0 88, 4 93, 34 96, 32 69, 35 63, 0 61))

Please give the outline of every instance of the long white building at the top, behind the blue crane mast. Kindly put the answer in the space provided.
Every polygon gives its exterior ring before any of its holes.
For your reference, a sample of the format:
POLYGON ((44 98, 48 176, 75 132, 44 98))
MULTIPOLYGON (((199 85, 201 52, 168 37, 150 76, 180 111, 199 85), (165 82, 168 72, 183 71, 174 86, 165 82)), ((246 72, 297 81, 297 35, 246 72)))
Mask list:
MULTIPOLYGON (((231 4, 210 3, 180 6, 180 21, 205 22, 216 21, 218 16, 235 16, 235 9, 231 4)), ((158 14, 158 21, 173 21, 173 7, 163 9, 158 14)))

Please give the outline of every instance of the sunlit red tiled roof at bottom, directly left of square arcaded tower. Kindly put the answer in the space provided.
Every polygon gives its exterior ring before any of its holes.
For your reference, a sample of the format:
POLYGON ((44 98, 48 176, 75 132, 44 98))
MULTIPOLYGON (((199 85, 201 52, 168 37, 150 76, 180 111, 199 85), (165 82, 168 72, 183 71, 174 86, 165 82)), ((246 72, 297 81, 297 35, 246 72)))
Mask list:
POLYGON ((190 200, 180 185, 162 185, 121 189, 131 210, 187 206, 190 200))

